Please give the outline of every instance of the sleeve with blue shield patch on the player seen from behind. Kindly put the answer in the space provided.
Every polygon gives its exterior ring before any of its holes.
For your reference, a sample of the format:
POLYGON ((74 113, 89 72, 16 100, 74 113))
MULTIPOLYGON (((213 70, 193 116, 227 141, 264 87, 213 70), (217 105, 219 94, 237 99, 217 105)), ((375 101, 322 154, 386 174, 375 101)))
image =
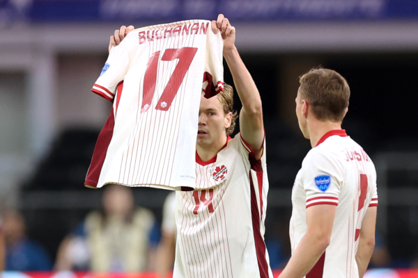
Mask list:
POLYGON ((332 155, 309 152, 302 163, 302 183, 307 196, 307 208, 317 204, 338 206, 343 174, 332 155))

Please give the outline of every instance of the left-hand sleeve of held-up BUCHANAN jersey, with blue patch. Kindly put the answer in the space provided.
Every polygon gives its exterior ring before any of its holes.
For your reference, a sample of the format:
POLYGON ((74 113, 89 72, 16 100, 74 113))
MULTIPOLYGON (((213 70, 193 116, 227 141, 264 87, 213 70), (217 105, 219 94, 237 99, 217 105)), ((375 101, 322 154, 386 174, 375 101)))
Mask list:
POLYGON ((125 38, 111 49, 102 72, 91 89, 92 92, 109 101, 113 101, 118 83, 123 81, 130 64, 127 44, 128 40, 125 38))

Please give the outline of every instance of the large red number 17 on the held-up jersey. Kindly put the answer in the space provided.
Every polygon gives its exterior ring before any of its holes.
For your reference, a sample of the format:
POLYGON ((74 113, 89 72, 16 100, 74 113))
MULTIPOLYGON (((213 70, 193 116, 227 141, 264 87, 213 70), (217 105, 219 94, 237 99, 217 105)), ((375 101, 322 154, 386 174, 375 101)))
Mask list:
MULTIPOLYGON (((167 86, 164 88, 160 99, 158 99, 156 110, 168 111, 174 97, 180 88, 180 84, 185 78, 187 70, 189 70, 190 64, 196 55, 196 47, 183 47, 180 49, 166 49, 162 56, 162 61, 172 61, 178 59, 176 69, 170 77, 167 86)), ((157 68, 158 60, 160 58, 160 51, 151 54, 148 60, 145 76, 144 76, 144 94, 142 97, 141 113, 148 111, 153 101, 155 85, 157 84, 157 68)))

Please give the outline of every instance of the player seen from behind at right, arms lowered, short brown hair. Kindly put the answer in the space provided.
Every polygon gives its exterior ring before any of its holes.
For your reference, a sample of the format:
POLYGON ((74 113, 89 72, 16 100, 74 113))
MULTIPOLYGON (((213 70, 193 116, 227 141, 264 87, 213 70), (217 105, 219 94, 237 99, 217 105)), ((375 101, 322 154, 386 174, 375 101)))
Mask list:
POLYGON ((346 80, 333 70, 300 77, 296 115, 312 149, 293 186, 293 254, 280 278, 357 278, 366 272, 376 227, 376 170, 341 129, 349 97, 346 80))

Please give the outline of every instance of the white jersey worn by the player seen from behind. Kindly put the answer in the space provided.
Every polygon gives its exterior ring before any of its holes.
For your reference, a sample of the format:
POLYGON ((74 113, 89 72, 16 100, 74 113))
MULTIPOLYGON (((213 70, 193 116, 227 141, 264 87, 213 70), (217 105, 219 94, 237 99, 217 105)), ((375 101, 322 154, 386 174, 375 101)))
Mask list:
POLYGON ((378 205, 376 170, 369 156, 344 130, 326 133, 311 149, 292 191, 292 253, 307 231, 309 206, 337 206, 331 241, 307 278, 357 278, 355 254, 369 206, 378 205))

